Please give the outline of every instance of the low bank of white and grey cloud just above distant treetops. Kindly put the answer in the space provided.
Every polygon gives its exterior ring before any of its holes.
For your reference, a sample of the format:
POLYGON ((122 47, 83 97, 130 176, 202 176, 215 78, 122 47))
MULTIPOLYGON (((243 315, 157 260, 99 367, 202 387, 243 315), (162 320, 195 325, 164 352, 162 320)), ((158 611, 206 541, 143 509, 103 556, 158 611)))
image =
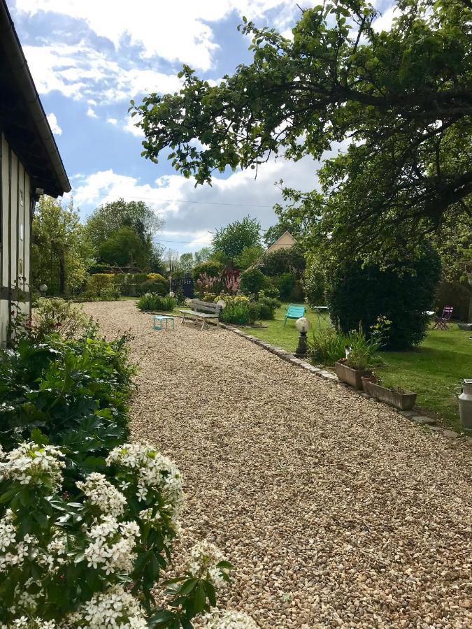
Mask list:
POLYGON ((163 175, 151 185, 110 168, 76 182, 73 196, 76 205, 90 210, 121 196, 145 201, 166 222, 162 238, 180 251, 190 251, 206 245, 215 228, 246 215, 259 218, 267 229, 276 222, 273 204, 282 200, 274 182, 283 179, 289 187, 311 190, 317 187, 316 166, 310 157, 296 163, 278 159, 261 166, 257 180, 254 171, 237 171, 226 179, 214 178, 212 187, 197 188, 194 180, 177 174, 163 175))

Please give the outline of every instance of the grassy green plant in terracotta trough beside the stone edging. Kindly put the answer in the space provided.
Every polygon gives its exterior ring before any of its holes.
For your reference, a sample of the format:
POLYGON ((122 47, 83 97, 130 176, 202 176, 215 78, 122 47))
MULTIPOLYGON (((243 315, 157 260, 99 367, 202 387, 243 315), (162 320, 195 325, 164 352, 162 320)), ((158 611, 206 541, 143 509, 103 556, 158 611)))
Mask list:
POLYGON ((359 332, 350 332, 348 341, 345 359, 340 359, 334 364, 336 375, 341 382, 362 391, 362 377, 372 377, 372 368, 380 363, 378 357, 380 340, 375 336, 367 339, 360 329, 359 332))

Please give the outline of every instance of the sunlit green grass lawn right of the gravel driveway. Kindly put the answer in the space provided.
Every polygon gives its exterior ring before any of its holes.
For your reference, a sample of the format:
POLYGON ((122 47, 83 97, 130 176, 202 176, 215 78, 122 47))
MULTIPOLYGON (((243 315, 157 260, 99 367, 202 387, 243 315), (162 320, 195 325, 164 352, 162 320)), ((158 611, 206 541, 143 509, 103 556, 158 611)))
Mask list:
MULTIPOLYGON (((298 341, 295 322, 283 324, 286 304, 276 310, 274 321, 264 321, 266 328, 251 328, 250 333, 262 338, 271 345, 294 352, 298 341)), ((318 317, 312 310, 307 311, 311 331, 320 326, 329 326, 327 316, 318 317)), ((245 328, 248 331, 248 328, 245 328)), ((311 336, 308 333, 308 338, 311 336)), ((457 386, 462 379, 472 377, 472 340, 470 334, 451 324, 450 329, 429 330, 420 347, 409 352, 382 352, 387 365, 381 370, 382 384, 401 386, 415 391, 417 407, 424 412, 433 412, 445 424, 459 429, 459 407, 457 386)))

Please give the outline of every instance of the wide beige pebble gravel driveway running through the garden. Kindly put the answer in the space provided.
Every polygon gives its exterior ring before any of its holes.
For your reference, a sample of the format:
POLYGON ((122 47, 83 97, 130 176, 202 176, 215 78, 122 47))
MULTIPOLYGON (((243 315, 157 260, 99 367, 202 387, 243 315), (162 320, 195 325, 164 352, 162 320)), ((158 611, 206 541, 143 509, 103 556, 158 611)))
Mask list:
POLYGON ((472 627, 472 448, 234 333, 153 331, 134 303, 134 438, 185 475, 185 547, 236 566, 222 605, 262 628, 472 627))

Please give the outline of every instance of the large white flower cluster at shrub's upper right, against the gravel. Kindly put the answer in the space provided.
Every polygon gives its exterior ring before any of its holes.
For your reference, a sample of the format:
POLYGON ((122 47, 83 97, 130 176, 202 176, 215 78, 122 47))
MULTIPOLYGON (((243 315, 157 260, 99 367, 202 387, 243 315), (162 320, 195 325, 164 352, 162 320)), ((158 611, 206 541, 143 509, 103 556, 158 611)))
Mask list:
POLYGON ((183 479, 170 458, 159 454, 150 445, 127 443, 113 449, 106 463, 115 463, 120 468, 137 474, 137 496, 140 500, 147 498, 151 487, 162 491, 173 510, 173 518, 178 517, 183 506, 183 479))

